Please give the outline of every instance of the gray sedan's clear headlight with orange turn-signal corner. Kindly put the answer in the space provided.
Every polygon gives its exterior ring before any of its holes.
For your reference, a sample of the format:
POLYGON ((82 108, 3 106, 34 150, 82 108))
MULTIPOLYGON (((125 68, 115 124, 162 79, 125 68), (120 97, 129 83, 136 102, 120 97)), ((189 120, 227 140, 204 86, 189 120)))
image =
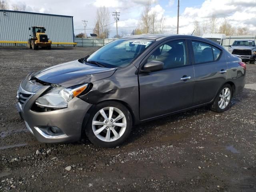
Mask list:
POLYGON ((86 90, 87 85, 88 84, 83 84, 72 88, 52 88, 52 90, 39 97, 36 100, 36 104, 40 107, 47 108, 66 108, 68 107, 68 102, 72 98, 80 95, 84 90, 86 90))

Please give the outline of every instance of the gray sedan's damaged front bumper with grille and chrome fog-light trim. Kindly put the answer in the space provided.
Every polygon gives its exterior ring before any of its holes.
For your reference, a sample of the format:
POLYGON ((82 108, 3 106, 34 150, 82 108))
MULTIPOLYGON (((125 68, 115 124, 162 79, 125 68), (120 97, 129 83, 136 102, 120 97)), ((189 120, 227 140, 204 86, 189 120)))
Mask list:
POLYGON ((25 125, 40 142, 74 142, 81 138, 82 123, 92 106, 80 98, 73 98, 67 108, 40 112, 34 110, 36 99, 50 86, 32 83, 30 75, 20 84, 16 108, 25 125))

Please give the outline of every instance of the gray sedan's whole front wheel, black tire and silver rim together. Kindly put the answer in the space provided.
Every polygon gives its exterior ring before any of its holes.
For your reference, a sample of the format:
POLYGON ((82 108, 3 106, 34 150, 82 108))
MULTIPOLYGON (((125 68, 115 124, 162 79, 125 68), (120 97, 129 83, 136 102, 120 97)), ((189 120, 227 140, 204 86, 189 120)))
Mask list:
POLYGON ((100 147, 115 147, 124 142, 132 129, 132 116, 119 102, 95 106, 85 128, 90 142, 100 147))

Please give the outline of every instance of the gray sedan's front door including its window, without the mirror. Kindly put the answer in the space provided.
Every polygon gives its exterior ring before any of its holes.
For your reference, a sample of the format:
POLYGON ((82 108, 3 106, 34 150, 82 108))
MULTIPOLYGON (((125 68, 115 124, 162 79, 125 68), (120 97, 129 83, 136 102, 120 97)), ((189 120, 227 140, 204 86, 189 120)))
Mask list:
POLYGON ((164 62, 164 69, 138 75, 140 119, 168 114, 193 104, 194 67, 188 63, 185 40, 171 40, 154 48, 150 60, 164 62))

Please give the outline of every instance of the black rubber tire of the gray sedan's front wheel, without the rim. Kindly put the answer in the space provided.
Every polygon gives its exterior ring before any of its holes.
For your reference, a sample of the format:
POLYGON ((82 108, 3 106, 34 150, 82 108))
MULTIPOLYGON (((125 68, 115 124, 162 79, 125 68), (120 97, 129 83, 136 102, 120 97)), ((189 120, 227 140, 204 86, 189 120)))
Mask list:
MULTIPOLYGON (((108 116, 107 113, 106 113, 106 115, 108 116)), ((114 116, 114 112, 113 112, 113 116, 114 116)), ((103 120, 103 121, 105 121, 105 120, 103 120)), ((112 148, 112 147, 122 144, 126 140, 126 138, 129 136, 131 129, 132 129, 132 116, 131 116, 129 110, 123 104, 121 104, 119 102, 110 101, 110 102, 102 102, 93 108, 92 112, 90 113, 90 118, 88 120, 88 123, 86 124, 86 127, 85 127, 85 133, 86 133, 86 136, 88 137, 88 139, 90 140, 90 142, 92 142, 96 146, 112 148), (107 108, 107 107, 114 107, 114 108, 119 109, 120 111, 122 111, 122 113, 124 114, 124 116, 126 118, 126 128, 125 128, 122 136, 120 136, 120 138, 118 138, 114 141, 108 141, 108 142, 100 140, 98 137, 96 137, 96 135, 94 134, 93 128, 92 128, 92 121, 93 121, 94 116, 101 109, 107 108)), ((107 130, 106 129, 103 130, 100 134, 105 134, 104 131, 107 131, 107 130)), ((111 134, 111 132, 110 132, 110 134, 111 134)), ((119 134, 120 134, 120 132, 119 132, 119 134)), ((113 132, 112 132, 112 136, 113 136, 113 132)), ((114 137, 112 137, 112 138, 114 138, 114 137)))

